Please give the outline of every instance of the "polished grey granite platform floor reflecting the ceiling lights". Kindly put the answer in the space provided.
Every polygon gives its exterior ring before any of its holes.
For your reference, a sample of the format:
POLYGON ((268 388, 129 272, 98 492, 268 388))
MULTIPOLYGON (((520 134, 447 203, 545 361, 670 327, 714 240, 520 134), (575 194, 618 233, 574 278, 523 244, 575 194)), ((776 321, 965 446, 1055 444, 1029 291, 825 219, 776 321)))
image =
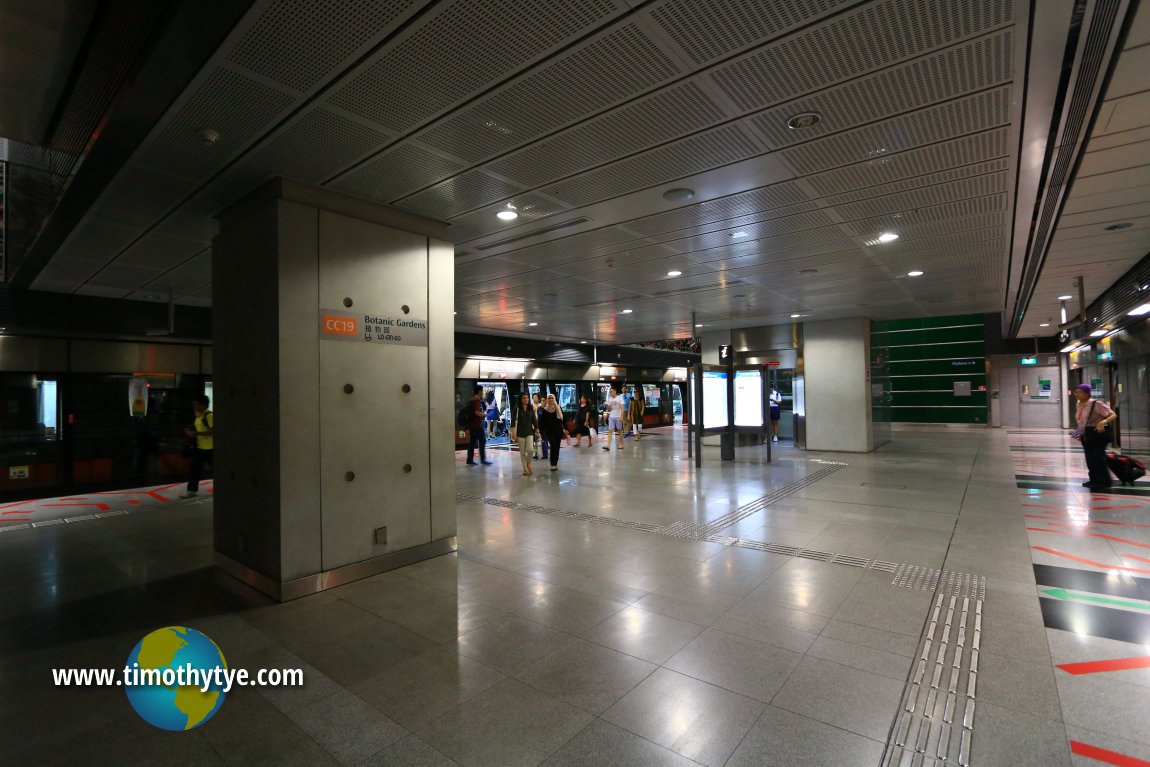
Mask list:
POLYGON ((1148 764, 1150 496, 1087 492, 1056 432, 716 453, 696 473, 665 429, 530 477, 460 454, 458 554, 284 605, 210 567, 210 497, 21 507, 0 765, 1148 764), (948 604, 953 693, 929 673, 948 604), (122 690, 52 685, 163 626, 307 683, 235 689, 179 734, 122 690))

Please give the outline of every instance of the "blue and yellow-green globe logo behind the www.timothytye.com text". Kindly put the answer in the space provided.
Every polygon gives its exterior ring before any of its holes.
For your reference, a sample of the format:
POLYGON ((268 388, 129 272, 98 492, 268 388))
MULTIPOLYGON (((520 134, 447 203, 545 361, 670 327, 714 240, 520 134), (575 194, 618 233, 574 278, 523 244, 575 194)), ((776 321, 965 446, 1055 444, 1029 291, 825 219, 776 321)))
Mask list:
POLYGON ((169 626, 152 631, 132 649, 123 683, 128 701, 148 724, 190 730, 223 705, 227 668, 223 652, 207 635, 169 626))

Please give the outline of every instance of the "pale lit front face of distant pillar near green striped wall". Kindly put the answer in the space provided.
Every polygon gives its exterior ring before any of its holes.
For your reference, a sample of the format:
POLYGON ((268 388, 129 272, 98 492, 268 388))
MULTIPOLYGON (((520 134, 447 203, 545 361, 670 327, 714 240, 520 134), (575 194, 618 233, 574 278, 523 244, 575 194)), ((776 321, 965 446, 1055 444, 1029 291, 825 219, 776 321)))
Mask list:
POLYGON ((871 321, 803 323, 806 448, 874 450, 871 420, 871 321))

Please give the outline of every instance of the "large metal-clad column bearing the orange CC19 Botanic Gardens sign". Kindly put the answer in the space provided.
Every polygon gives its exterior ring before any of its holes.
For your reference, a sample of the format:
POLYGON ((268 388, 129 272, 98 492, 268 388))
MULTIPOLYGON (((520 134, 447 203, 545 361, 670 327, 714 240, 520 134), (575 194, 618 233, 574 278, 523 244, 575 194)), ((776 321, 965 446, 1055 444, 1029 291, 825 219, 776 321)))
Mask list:
POLYGON ((212 246, 215 561, 281 601, 454 551, 445 227, 274 179, 212 246))

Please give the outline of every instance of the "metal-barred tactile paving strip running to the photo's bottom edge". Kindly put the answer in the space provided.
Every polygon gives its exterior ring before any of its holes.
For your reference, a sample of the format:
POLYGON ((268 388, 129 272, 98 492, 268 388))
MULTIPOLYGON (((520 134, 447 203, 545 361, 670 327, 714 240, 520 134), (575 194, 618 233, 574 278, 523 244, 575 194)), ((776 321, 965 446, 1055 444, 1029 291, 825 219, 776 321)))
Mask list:
POLYGON ((882 767, 971 765, 984 598, 948 595, 946 590, 981 589, 984 593, 986 578, 943 575, 882 767))

